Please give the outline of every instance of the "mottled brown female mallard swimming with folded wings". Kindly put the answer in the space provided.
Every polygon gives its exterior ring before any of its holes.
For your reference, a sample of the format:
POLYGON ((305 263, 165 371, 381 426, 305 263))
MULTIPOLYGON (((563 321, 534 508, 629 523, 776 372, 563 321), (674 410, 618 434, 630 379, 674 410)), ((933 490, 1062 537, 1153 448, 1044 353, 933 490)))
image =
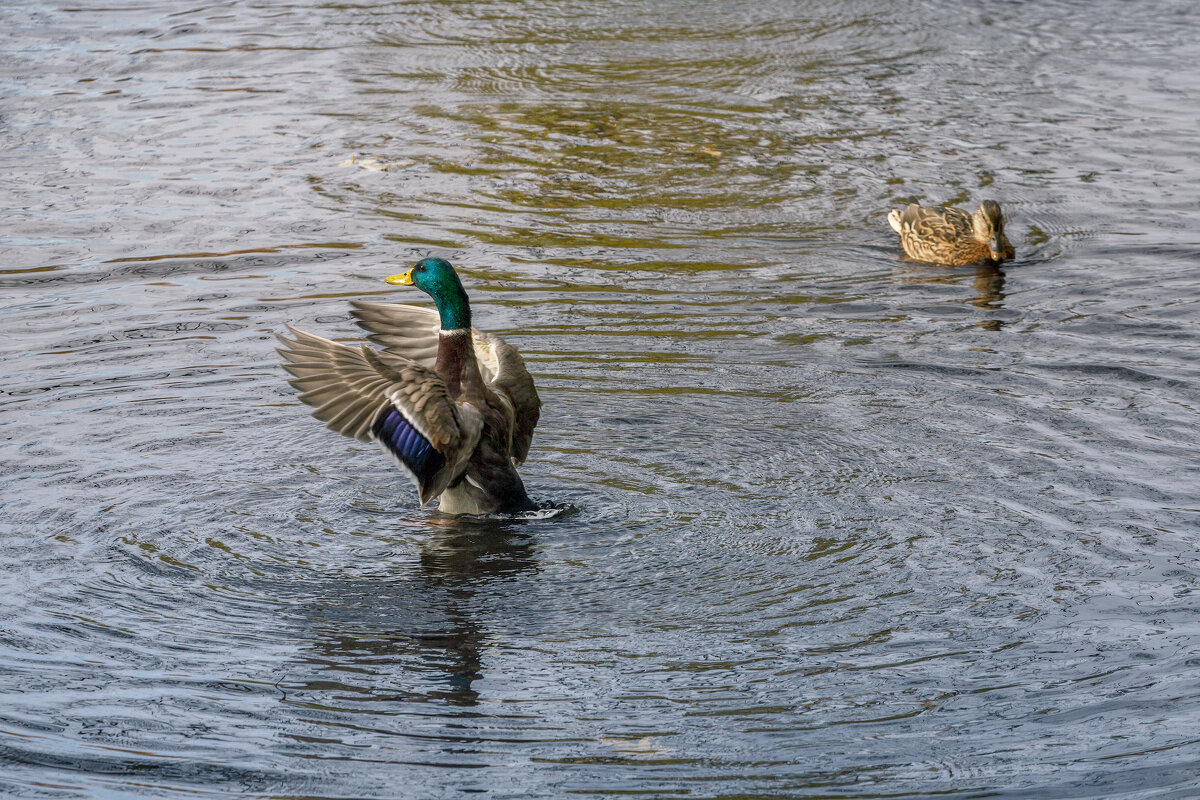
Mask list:
POLYGON ((1015 255, 995 200, 984 200, 974 213, 912 203, 904 211, 893 209, 888 222, 900 234, 905 255, 918 261, 961 266, 1015 255))

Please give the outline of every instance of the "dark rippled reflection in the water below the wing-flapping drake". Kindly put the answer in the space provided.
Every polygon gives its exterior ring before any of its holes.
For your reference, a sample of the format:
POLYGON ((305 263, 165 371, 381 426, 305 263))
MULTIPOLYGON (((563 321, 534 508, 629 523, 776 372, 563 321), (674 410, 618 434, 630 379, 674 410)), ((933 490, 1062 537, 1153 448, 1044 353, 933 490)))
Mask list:
POLYGON ((386 712, 397 702, 474 705, 491 640, 487 600, 503 604, 508 587, 536 570, 532 539, 510 528, 461 518, 434 525, 406 575, 330 587, 311 615, 302 658, 320 675, 292 684, 292 693, 322 693, 322 704, 355 711, 367 704, 386 712))

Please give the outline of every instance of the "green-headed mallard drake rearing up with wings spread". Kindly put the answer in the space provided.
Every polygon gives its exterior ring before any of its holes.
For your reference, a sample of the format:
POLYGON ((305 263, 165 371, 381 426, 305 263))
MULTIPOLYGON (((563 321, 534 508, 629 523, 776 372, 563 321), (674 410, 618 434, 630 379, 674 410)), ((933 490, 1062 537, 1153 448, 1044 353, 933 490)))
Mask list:
POLYGON ((516 348, 470 326, 450 263, 427 258, 388 283, 415 285, 437 311, 352 302, 383 350, 349 347, 288 326, 280 336, 289 381, 331 429, 378 441, 416 483, 421 506, 446 513, 534 507, 516 467, 529 452, 541 401, 516 348))

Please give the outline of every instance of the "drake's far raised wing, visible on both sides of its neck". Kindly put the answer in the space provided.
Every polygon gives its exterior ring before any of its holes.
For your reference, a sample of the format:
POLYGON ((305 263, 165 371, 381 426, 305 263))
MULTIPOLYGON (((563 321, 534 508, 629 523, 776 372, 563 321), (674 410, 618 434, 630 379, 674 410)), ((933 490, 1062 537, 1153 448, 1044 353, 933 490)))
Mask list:
MULTIPOLYGON (((421 306, 394 302, 352 301, 350 315, 367 331, 368 339, 389 354, 433 368, 438 353, 438 313, 421 306)), ((533 429, 541 414, 541 399, 517 349, 494 333, 472 329, 472 344, 484 383, 508 405, 512 429, 512 459, 521 464, 529 455, 533 429)))

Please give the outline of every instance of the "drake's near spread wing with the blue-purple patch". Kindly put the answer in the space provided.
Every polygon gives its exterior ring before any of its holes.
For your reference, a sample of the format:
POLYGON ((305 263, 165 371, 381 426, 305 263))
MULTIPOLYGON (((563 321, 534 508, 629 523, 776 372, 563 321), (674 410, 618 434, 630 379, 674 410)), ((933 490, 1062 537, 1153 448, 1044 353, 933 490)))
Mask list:
POLYGON ((482 422, 450 399, 445 383, 419 363, 349 347, 288 326, 278 349, 289 381, 331 431, 379 441, 416 485, 421 505, 466 469, 482 422))

